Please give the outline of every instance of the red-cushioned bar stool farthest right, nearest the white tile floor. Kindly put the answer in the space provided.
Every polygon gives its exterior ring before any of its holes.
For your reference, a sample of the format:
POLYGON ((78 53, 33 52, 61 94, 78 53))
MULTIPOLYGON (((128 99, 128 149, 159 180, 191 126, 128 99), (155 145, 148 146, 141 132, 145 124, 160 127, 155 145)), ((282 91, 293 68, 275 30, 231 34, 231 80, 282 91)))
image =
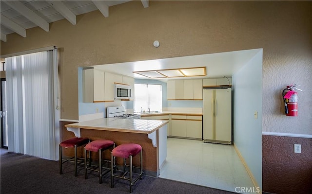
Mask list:
POLYGON ((139 144, 136 143, 124 143, 121 145, 118 145, 116 148, 113 149, 111 152, 111 187, 114 188, 114 177, 117 178, 122 178, 129 180, 130 183, 130 193, 133 191, 133 185, 137 182, 137 179, 140 178, 142 179, 143 175, 143 154, 142 154, 142 147, 139 144), (132 165, 132 157, 135 157, 138 153, 140 153, 140 167, 136 167, 132 165), (122 176, 117 176, 114 175, 114 171, 116 168, 116 165, 114 164, 114 159, 115 157, 123 158, 123 175, 122 176), (129 159, 129 165, 126 165, 126 159, 129 159), (129 177, 126 177, 126 166, 129 166, 129 177), (132 171, 133 168, 139 168, 140 169, 140 174, 135 178, 133 181, 132 177, 132 171))

